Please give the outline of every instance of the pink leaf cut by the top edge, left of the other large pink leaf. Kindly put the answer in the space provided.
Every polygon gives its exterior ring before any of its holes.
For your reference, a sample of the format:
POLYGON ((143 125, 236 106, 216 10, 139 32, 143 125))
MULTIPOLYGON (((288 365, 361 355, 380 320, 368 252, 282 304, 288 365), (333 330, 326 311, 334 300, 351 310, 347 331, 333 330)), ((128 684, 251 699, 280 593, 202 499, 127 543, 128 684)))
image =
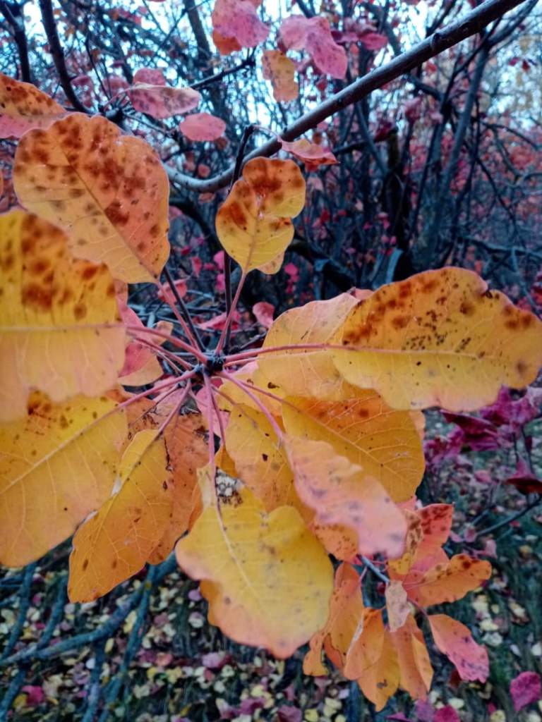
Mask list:
POLYGON ((235 40, 241 48, 255 48, 269 35, 250 0, 216 0, 212 27, 223 38, 235 40))

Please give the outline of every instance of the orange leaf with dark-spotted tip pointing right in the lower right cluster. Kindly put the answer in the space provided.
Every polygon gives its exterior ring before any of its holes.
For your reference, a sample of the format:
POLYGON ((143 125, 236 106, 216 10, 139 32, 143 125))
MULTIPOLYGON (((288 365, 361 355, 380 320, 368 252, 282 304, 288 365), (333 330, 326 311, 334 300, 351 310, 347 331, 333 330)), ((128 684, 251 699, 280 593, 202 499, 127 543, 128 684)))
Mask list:
POLYGON ((427 571, 413 567, 403 579, 403 586, 408 599, 420 606, 431 606, 462 599, 490 576, 489 562, 471 559, 467 554, 456 554, 427 571))

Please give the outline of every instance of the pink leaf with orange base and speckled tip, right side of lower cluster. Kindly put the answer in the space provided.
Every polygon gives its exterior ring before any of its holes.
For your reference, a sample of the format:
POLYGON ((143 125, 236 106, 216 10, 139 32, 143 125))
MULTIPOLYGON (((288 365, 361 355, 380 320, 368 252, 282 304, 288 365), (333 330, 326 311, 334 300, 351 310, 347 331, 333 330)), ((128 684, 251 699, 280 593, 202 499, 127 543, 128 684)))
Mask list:
POLYGON ((436 646, 455 665, 461 679, 486 682, 489 676, 487 650, 476 644, 468 627, 447 614, 429 614, 427 619, 436 646))

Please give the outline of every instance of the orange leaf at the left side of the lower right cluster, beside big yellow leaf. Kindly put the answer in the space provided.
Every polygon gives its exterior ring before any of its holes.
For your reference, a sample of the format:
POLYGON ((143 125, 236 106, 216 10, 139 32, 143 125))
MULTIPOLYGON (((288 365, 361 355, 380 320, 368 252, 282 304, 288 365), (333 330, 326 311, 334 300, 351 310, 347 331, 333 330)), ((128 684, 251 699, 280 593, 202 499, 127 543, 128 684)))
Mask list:
POLYGON ((335 587, 330 599, 327 622, 309 642, 310 649, 303 661, 304 673, 315 677, 327 674, 327 669, 322 664, 322 649, 326 640, 329 640, 332 648, 339 653, 342 664, 343 656, 363 616, 364 603, 361 599, 359 575, 350 564, 343 563, 335 572, 335 587))

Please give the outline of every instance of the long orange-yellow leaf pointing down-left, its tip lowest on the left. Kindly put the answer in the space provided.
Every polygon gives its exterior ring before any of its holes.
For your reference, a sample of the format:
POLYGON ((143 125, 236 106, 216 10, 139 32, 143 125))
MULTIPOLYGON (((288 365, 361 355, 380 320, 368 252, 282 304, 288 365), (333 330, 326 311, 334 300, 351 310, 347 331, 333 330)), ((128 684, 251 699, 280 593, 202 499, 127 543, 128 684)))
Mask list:
POLYGON ((171 474, 163 439, 137 433, 124 451, 120 489, 79 527, 69 557, 70 601, 93 601, 138 572, 167 529, 171 474))

